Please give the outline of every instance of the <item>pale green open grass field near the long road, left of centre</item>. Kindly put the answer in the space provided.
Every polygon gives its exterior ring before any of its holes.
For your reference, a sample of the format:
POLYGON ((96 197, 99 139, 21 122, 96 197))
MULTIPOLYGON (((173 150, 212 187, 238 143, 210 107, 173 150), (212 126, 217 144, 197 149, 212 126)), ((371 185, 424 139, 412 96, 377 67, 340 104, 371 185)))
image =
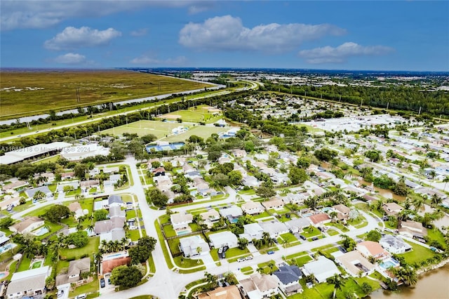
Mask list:
POLYGON ((136 133, 139 136, 153 134, 157 138, 163 138, 171 134, 173 128, 178 126, 189 126, 187 124, 178 124, 168 121, 135 121, 128 125, 118 126, 116 128, 109 128, 102 131, 103 134, 123 135, 123 133, 136 133))

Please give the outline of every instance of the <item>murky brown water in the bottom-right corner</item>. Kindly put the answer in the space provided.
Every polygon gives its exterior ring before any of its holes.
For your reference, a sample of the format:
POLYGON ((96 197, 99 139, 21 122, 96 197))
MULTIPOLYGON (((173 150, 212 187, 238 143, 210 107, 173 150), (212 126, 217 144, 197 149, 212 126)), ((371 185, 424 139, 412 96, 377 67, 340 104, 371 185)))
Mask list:
POLYGON ((372 293, 371 299, 448 299, 449 298, 449 263, 436 270, 420 275, 417 284, 413 287, 401 286, 398 291, 380 290, 372 293))

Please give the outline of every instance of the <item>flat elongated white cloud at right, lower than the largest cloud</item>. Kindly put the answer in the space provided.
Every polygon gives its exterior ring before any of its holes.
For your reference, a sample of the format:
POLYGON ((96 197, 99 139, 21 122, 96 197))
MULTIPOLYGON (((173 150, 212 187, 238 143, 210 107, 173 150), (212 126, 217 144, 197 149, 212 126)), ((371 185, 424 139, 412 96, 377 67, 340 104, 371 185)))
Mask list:
POLYGON ((387 46, 361 46, 353 42, 347 42, 337 47, 325 46, 302 50, 298 53, 300 57, 305 58, 307 62, 319 63, 341 63, 351 56, 361 55, 384 55, 394 51, 387 46))

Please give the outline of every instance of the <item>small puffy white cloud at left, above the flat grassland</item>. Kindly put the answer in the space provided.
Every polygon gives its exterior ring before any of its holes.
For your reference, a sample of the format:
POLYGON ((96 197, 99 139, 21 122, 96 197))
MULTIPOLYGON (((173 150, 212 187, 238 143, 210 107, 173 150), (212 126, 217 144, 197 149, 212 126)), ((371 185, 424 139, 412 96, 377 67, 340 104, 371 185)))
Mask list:
POLYGON ((91 29, 90 27, 66 27, 56 34, 53 39, 45 41, 43 46, 49 50, 65 50, 73 48, 104 46, 112 39, 121 36, 121 32, 114 28, 105 30, 91 29))

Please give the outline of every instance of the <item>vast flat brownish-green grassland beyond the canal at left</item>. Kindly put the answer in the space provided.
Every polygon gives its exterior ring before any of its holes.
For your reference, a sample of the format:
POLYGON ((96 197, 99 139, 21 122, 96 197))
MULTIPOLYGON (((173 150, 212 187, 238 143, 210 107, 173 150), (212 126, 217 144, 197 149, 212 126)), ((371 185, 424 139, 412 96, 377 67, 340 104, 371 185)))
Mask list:
POLYGON ((3 118, 201 89, 207 84, 127 70, 1 71, 3 118), (80 102, 76 101, 76 88, 80 102))

